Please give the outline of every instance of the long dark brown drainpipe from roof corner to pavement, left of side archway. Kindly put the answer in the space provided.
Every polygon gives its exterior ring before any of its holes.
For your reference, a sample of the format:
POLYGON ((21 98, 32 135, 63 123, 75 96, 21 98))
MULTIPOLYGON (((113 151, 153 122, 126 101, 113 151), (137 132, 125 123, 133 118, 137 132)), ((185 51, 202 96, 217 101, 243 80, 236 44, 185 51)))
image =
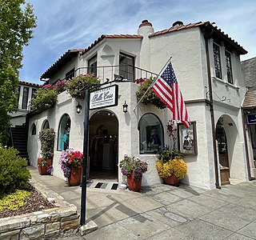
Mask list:
POLYGON ((209 30, 206 30, 204 34, 205 43, 206 43, 206 64, 207 64, 207 75, 208 75, 208 86, 209 86, 209 98, 210 98, 210 122, 211 122, 211 131, 213 137, 213 147, 214 147, 214 170, 215 170, 215 186, 218 189, 221 189, 218 182, 218 158, 217 158, 217 147, 216 147, 216 138, 215 138, 215 124, 214 124, 214 101, 213 101, 213 91, 211 86, 211 77, 210 77, 210 55, 208 47, 208 39, 211 38, 212 32, 209 33, 209 30))

